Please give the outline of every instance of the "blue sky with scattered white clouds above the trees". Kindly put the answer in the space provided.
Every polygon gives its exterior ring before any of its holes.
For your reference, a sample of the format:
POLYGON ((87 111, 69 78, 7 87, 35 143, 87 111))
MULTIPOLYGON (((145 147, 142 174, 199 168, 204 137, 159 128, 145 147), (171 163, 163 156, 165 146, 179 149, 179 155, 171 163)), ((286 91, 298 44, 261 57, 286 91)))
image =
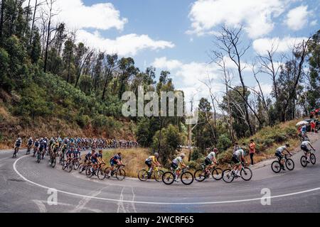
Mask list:
MULTIPOLYGON (((106 52, 134 57, 137 67, 150 65, 171 71, 176 88, 191 96, 208 96, 198 79, 210 74, 214 91, 223 86, 208 51, 214 49, 213 35, 223 24, 244 26, 243 42, 251 48, 243 59, 250 64, 257 52, 263 54, 272 40, 279 53, 289 54, 290 46, 319 30, 320 0, 58 0, 60 21, 73 24, 80 41, 106 52)), ((230 70, 233 70, 233 65, 230 70)), ((259 74, 264 92, 270 79, 259 74)), ((250 70, 245 82, 255 87, 250 70)), ((233 84, 239 83, 237 74, 233 84)))

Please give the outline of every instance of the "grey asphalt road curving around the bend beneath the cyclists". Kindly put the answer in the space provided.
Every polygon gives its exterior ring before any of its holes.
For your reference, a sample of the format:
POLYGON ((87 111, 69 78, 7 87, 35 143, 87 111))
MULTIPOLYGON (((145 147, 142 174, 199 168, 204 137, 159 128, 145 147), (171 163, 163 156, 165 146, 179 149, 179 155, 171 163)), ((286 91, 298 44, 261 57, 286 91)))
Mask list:
POLYGON ((293 171, 272 172, 270 165, 252 170, 250 182, 235 179, 227 184, 208 179, 165 185, 137 179, 88 179, 78 171, 65 172, 57 163, 40 164, 24 151, 11 157, 0 152, 0 212, 320 212, 320 140, 316 165, 303 168, 302 153, 292 159, 293 171), (53 191, 56 190, 56 191, 53 191), (262 199, 262 189, 270 195, 262 199), (56 192, 57 203, 51 204, 56 192), (49 200, 49 203, 48 203, 49 200), (270 201, 262 205, 261 201, 270 201))

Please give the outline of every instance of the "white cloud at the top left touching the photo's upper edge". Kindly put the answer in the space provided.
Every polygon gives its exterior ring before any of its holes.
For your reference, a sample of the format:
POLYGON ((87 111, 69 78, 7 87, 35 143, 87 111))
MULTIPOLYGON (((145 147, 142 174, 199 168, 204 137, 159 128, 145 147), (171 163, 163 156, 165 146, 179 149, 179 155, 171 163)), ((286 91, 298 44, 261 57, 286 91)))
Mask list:
MULTIPOLYGON (((34 4, 35 0, 31 0, 31 6, 34 6, 34 4)), ((28 5, 28 1, 25 1, 24 5, 28 5)), ((42 8, 48 10, 46 5, 43 5, 42 8)), ((127 18, 120 16, 120 12, 111 3, 85 6, 82 0, 56 0, 53 9, 53 13, 58 14, 53 17, 53 21, 55 23, 58 21, 65 22, 68 28, 72 30, 116 28, 121 31, 128 21, 127 18)))

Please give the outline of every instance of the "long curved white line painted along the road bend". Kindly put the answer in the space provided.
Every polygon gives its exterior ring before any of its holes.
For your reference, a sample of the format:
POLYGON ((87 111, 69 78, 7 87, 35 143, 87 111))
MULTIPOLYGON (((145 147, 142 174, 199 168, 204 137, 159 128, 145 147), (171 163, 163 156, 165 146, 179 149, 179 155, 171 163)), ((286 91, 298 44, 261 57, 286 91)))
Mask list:
MULTIPOLYGON (((23 157, 27 157, 27 156, 23 156, 23 157)), ((23 177, 23 175, 21 175, 20 172, 18 172, 18 170, 16 170, 16 163, 18 162, 18 160, 21 160, 20 157, 16 160, 16 162, 14 162, 14 171, 16 172, 17 175, 19 175, 19 177, 21 177, 23 180, 25 180, 26 182, 29 182, 31 184, 34 184, 38 187, 42 187, 44 189, 50 189, 50 187, 46 187, 44 185, 38 184, 36 182, 32 182, 29 179, 26 179, 26 177, 23 177)), ((281 197, 287 197, 287 196, 294 196, 297 194, 304 194, 304 193, 309 193, 309 192, 315 192, 320 190, 320 187, 314 188, 314 189, 307 189, 304 191, 300 191, 300 192, 293 192, 293 193, 289 193, 289 194, 280 194, 277 196, 268 196, 268 197, 264 197, 264 199, 273 199, 273 198, 281 198, 281 197)), ((107 199, 107 198, 101 198, 101 197, 96 197, 96 196, 87 196, 87 195, 82 195, 82 194, 76 194, 76 193, 72 193, 72 192, 65 192, 62 190, 58 190, 57 192, 61 192, 63 194, 69 194, 71 196, 80 196, 80 197, 87 197, 90 199, 100 199, 100 200, 104 200, 104 201, 115 201, 115 202, 122 202, 122 203, 134 203, 134 204, 154 204, 154 205, 207 205, 207 204, 232 204, 232 203, 240 203, 240 202, 246 202, 246 201, 260 201, 260 198, 254 198, 254 199, 239 199, 239 200, 230 200, 230 201, 207 201, 207 202, 185 202, 185 203, 165 203, 165 202, 152 202, 152 201, 128 201, 128 200, 120 200, 120 199, 107 199)))

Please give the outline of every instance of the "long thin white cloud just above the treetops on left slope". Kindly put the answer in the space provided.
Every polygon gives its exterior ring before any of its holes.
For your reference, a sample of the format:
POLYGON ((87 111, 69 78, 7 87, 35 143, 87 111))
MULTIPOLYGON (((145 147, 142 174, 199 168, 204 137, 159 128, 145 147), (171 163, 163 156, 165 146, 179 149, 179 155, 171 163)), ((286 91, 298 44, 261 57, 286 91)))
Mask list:
POLYGON ((97 50, 118 55, 137 55, 140 50, 159 50, 174 48, 174 44, 164 40, 152 40, 148 35, 128 34, 117 37, 114 40, 103 38, 99 32, 89 33, 80 30, 77 33, 78 42, 85 43, 97 50))

